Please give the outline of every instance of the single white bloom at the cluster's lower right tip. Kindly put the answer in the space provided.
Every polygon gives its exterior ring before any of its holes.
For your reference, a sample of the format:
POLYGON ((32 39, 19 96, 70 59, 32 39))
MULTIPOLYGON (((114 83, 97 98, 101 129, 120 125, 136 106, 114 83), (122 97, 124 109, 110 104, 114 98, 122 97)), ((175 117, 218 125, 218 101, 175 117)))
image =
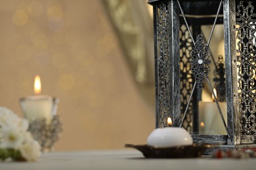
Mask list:
MULTIPOLYGON (((26 135, 29 137, 30 135, 26 135)), ((31 137, 31 136, 30 136, 31 137)), ((36 161, 41 155, 41 146, 37 143, 37 141, 33 140, 32 137, 30 139, 26 139, 27 141, 22 144, 20 148, 20 153, 27 161, 36 161)))

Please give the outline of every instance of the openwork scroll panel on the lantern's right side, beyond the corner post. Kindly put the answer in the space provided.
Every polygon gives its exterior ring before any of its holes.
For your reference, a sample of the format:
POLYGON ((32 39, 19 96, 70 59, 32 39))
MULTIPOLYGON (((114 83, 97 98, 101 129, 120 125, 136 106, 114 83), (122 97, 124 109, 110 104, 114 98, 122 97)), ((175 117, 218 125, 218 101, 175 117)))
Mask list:
POLYGON ((236 31, 238 38, 238 106, 240 131, 242 134, 256 133, 256 14, 252 1, 240 1, 236 9, 236 31))

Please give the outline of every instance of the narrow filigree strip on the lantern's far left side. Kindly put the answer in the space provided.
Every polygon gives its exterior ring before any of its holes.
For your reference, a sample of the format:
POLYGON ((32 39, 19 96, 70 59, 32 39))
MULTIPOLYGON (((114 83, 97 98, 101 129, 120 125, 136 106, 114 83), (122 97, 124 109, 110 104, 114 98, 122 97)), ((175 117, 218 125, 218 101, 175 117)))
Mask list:
POLYGON ((170 114, 170 59, 169 59, 169 10, 168 4, 158 5, 158 124, 167 126, 170 114))

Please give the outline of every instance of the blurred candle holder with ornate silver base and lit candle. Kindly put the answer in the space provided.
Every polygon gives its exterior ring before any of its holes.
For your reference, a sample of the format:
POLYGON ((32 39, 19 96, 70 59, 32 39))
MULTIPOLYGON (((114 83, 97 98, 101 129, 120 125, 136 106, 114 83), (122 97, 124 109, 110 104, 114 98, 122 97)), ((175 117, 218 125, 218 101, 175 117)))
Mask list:
POLYGON ((30 123, 29 131, 41 145, 43 152, 53 150, 63 130, 60 116, 56 115, 59 99, 49 95, 39 95, 41 81, 35 76, 34 92, 37 95, 22 97, 20 105, 24 117, 30 123))

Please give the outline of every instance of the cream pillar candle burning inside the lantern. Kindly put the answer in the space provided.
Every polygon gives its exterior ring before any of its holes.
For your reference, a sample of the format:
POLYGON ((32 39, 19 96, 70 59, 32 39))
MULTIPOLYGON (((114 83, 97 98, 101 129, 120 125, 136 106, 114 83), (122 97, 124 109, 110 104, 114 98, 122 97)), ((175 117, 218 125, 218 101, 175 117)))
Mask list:
MULTIPOLYGON (((217 98, 216 90, 213 89, 213 92, 215 93, 215 96, 217 98)), ((198 103, 198 122, 200 123, 199 133, 204 135, 226 135, 226 129, 224 127, 223 121, 221 120, 221 116, 219 114, 219 110, 217 108, 213 95, 212 99, 213 102, 200 101, 198 103), (203 123, 203 126, 201 126, 201 123, 203 123)), ((223 113, 224 120, 226 122, 226 102, 218 103, 219 107, 221 108, 221 112, 223 113)))

